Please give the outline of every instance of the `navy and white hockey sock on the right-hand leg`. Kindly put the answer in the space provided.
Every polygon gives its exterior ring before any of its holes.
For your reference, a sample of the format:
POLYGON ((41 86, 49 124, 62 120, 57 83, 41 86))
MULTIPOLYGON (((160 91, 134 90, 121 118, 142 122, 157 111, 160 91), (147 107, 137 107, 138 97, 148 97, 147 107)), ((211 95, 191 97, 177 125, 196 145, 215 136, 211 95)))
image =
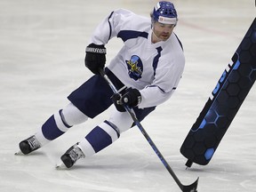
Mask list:
POLYGON ((85 156, 92 156, 103 148, 107 148, 120 137, 120 132, 114 124, 104 121, 89 132, 79 147, 85 156))

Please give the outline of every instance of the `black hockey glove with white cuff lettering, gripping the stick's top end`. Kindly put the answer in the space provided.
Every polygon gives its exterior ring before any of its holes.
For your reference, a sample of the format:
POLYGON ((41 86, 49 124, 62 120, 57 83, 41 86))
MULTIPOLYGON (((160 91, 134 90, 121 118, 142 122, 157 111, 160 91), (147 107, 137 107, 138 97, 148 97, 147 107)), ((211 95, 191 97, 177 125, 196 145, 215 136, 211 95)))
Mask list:
POLYGON ((85 50, 84 63, 93 74, 100 74, 99 69, 104 68, 106 63, 106 48, 103 44, 89 44, 85 50))

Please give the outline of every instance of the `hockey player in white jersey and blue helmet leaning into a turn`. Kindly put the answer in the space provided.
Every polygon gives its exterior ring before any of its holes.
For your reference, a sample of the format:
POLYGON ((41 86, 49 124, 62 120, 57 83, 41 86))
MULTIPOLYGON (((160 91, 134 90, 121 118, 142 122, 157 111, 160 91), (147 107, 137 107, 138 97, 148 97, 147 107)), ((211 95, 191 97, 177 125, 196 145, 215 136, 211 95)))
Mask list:
POLYGON ((100 115, 114 102, 116 110, 60 157, 67 168, 79 158, 92 156, 117 140, 132 127, 132 117, 122 104, 133 108, 141 121, 157 105, 168 100, 180 82, 185 59, 182 45, 174 34, 177 12, 171 2, 156 4, 150 18, 119 9, 111 12, 95 29, 86 47, 85 66, 94 74, 68 96, 67 107, 54 113, 27 140, 20 151, 27 155, 67 132, 73 125, 100 115), (105 68, 105 44, 120 37, 124 46, 105 68), (121 97, 116 97, 99 68, 104 68, 121 97))

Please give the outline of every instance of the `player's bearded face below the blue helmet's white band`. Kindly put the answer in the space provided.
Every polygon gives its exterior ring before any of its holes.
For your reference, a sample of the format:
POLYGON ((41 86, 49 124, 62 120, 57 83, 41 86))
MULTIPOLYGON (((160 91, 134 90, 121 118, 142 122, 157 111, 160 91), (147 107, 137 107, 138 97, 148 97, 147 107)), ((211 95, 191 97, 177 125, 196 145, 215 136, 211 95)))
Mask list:
POLYGON ((174 27, 175 26, 171 24, 163 24, 163 23, 155 22, 153 24, 153 32, 156 38, 155 38, 155 42, 153 43, 156 43, 159 41, 166 41, 172 35, 172 30, 174 27), (156 41, 156 39, 158 39, 158 41, 156 41))

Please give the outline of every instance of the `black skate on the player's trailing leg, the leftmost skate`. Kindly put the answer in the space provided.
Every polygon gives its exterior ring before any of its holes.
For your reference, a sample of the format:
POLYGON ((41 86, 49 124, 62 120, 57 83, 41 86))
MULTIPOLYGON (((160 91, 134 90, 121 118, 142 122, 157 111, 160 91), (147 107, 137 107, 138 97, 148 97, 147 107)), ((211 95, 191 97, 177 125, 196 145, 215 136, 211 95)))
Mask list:
POLYGON ((36 140, 35 135, 29 137, 27 140, 22 140, 20 142, 20 151, 24 155, 28 155, 32 151, 36 150, 37 148, 41 148, 41 144, 38 140, 36 140))

